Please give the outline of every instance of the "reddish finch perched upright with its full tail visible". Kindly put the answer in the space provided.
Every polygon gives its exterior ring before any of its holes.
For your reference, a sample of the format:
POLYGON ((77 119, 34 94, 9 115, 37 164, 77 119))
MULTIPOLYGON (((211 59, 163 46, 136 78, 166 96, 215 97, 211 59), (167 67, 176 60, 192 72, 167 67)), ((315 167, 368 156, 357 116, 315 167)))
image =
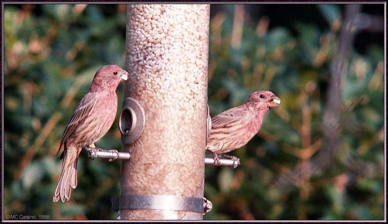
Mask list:
POLYGON ((115 91, 120 81, 128 77, 128 72, 117 65, 105 65, 97 70, 89 91, 81 99, 62 135, 58 153, 62 145, 65 149, 60 156, 63 161, 54 202, 59 198, 62 202, 68 201, 71 188, 77 187, 77 160, 81 149, 101 150, 94 143, 111 128, 117 111, 115 91))

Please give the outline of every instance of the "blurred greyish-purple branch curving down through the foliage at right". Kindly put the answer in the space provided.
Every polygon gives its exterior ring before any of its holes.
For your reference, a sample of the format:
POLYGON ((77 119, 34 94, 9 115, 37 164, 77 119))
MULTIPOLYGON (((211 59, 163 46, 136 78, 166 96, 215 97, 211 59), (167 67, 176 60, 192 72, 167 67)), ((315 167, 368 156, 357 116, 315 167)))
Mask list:
POLYGON ((294 170, 279 176, 274 185, 282 191, 287 191, 290 185, 301 179, 307 179, 317 171, 325 169, 333 162, 339 149, 339 113, 341 111, 342 94, 341 80, 346 74, 349 64, 349 55, 355 38, 361 10, 359 4, 345 6, 345 19, 339 33, 337 54, 331 64, 327 102, 323 113, 323 144, 318 154, 311 160, 301 164, 294 170))

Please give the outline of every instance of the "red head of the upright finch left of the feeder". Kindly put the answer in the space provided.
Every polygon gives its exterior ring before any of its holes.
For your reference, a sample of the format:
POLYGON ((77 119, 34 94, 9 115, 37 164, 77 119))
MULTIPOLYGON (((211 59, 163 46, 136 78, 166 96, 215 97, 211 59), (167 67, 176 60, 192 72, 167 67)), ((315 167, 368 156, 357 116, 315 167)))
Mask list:
POLYGON ((111 64, 100 67, 93 78, 90 92, 101 90, 115 91, 122 80, 128 80, 129 74, 121 67, 111 64))

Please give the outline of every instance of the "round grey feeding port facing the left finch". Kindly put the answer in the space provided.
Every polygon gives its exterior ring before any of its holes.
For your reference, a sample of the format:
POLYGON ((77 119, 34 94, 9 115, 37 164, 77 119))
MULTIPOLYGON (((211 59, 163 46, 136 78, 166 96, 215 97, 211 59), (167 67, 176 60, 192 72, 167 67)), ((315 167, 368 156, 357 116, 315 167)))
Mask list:
POLYGON ((121 141, 133 144, 142 134, 145 124, 146 115, 140 103, 131 97, 125 98, 118 121, 121 141))

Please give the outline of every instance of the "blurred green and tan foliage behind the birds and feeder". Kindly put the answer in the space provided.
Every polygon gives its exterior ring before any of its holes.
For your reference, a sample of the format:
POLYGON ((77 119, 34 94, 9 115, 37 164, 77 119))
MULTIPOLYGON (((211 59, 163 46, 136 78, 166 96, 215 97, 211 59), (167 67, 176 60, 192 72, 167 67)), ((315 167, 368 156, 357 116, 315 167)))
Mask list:
MULTIPOLYGON (((332 130, 338 150, 329 166, 292 175, 322 149, 344 8, 211 5, 210 114, 260 89, 282 103, 266 115, 259 134, 232 153, 240 167, 206 167, 205 197, 214 208, 204 219, 384 219, 383 4, 363 5, 360 12, 365 22, 351 43, 339 128, 332 130)), ((54 156, 75 107, 99 66, 124 66, 125 12, 126 5, 115 4, 4 5, 5 215, 116 218, 111 198, 119 194, 120 161, 90 161, 83 152, 71 200, 53 203, 52 195, 61 165, 54 156)), ((117 93, 120 104, 122 85, 117 93)), ((97 145, 121 147, 117 118, 97 145)))

